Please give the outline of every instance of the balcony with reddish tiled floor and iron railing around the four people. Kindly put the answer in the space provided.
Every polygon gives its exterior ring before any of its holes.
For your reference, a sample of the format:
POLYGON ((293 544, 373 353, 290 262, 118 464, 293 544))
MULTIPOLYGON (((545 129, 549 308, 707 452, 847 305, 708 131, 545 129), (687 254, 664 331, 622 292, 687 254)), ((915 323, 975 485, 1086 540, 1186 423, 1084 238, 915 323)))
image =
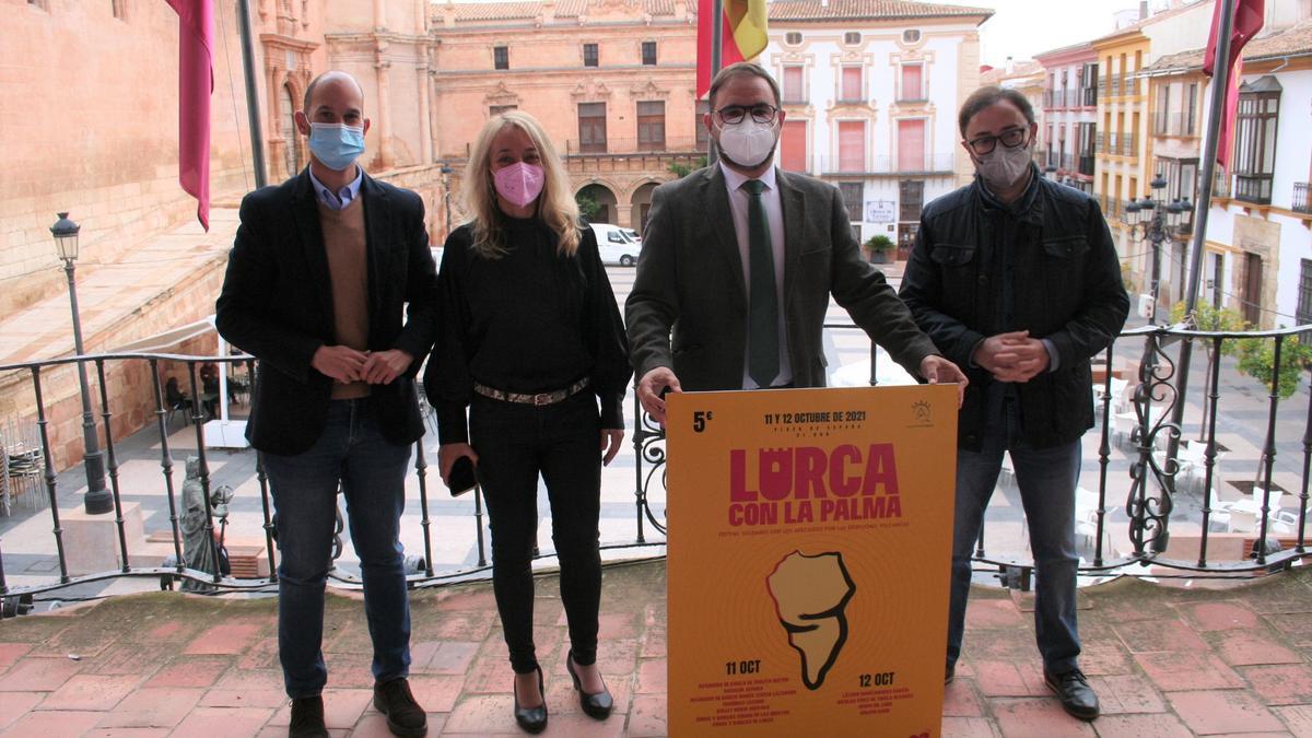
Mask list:
MULTIPOLYGON (((617 295, 619 301, 623 297, 617 295)), ((827 331, 825 340, 834 341, 838 356, 859 357, 870 348, 851 326, 829 326, 827 331)), ((1262 340, 1287 340, 1295 332, 1271 331, 1262 334, 1262 340)), ((1216 339, 1231 340, 1224 335, 1216 339)), ((1212 340, 1204 334, 1195 344, 1212 340)), ((1308 401, 1299 394, 1299 399, 1273 403, 1265 391, 1254 391, 1261 383, 1240 376, 1233 360, 1224 358, 1216 366, 1218 386, 1211 390, 1218 406, 1208 406, 1212 399, 1200 381, 1181 391, 1176 433, 1187 443, 1179 445, 1172 462, 1158 462, 1158 454, 1166 458, 1162 449, 1173 427, 1170 408, 1152 398, 1177 395, 1166 391, 1174 387, 1136 393, 1138 366, 1158 356, 1156 352, 1174 356, 1178 345, 1178 334, 1139 327, 1119 335, 1109 352, 1094 360, 1096 383, 1090 389, 1097 393, 1098 420, 1084 444, 1085 488, 1076 492, 1075 502, 1085 667, 1107 710, 1094 725, 1107 734, 1141 734, 1141 725, 1169 725, 1170 734, 1182 735, 1224 730, 1303 735, 1312 713, 1312 695, 1299 687, 1307 676, 1307 613, 1312 609, 1312 567, 1300 566, 1308 555, 1302 470, 1309 460, 1302 441, 1308 401), (1219 431, 1215 424, 1204 429, 1202 420, 1216 416, 1214 411, 1227 420, 1219 431), (1263 453, 1266 448, 1277 453, 1263 453), (1140 483, 1148 487, 1138 487, 1140 483), (1153 502, 1139 503, 1143 499, 1153 502), (1122 712, 1127 704, 1147 712, 1122 712), (1144 720, 1135 721, 1140 717, 1144 720), (1119 730, 1127 725, 1128 730, 1119 730)), ((1195 376, 1211 376, 1214 368, 1203 352, 1197 351, 1194 360, 1200 364, 1195 376)), ((123 365, 140 369, 151 360, 105 361, 114 370, 123 365)), ((180 372, 186 368, 181 361, 174 366, 180 372)), ((876 353, 874 362, 858 358, 832 366, 829 381, 834 386, 865 386, 874 377, 882 386, 911 382, 886 374, 890 368, 893 364, 887 355, 876 353)), ((4 369, 30 376, 31 368, 4 369)), ((56 370, 45 366, 41 377, 56 370)), ((150 381, 147 377, 147 385, 150 381)), ((669 642, 668 613, 672 607, 677 611, 676 599, 686 601, 697 594, 666 590, 668 494, 661 482, 664 467, 652 461, 665 458, 664 433, 649 418, 635 416, 631 395, 625 407, 640 450, 625 445, 604 470, 601 491, 600 536, 607 566, 600 655, 617 695, 609 725, 617 734, 677 735, 664 722, 665 672, 670 649, 686 645, 669 642), (648 450, 653 453, 643 453, 648 450), (635 482, 635 473, 649 482, 635 482), (657 558, 635 561, 639 555, 657 558)), ((201 415, 198 407, 190 410, 201 415)), ((41 479, 37 492, 18 490, 18 506, 0 516, 0 533, 5 534, 0 552, 0 601, 5 608, 0 692, 7 695, 0 729, 8 734, 79 735, 96 725, 125 724, 144 724, 174 735, 286 733, 286 695, 276 645, 278 600, 269 596, 277 592, 270 565, 278 552, 265 528, 272 508, 268 485, 253 452, 197 448, 202 420, 192 420, 115 439, 117 479, 130 490, 125 511, 142 513, 154 548, 138 549, 134 541, 123 546, 121 562, 115 548, 93 562, 100 569, 64 573, 70 554, 80 553, 56 545, 60 534, 70 536, 75 516, 67 513, 79 503, 80 469, 52 471, 49 488, 41 479), (171 445, 161 450, 165 441, 171 445), (171 515, 174 490, 182 485, 180 469, 169 471, 173 460, 168 448, 211 453, 213 477, 201 466, 202 477, 193 483, 202 488, 231 485, 235 492, 224 511, 202 498, 190 520, 181 511, 171 515), (30 503, 29 494, 52 499, 55 510, 30 503), (66 517, 56 519, 55 511, 66 517), (232 573, 194 569, 192 559, 168 562, 176 550, 184 557, 189 552, 177 538, 173 520, 198 529, 198 545, 213 541, 209 523, 214 531, 222 528, 232 573), (160 591, 184 582, 210 596, 160 591), (92 601, 49 612, 51 600, 81 599, 92 601), (17 615, 29 607, 37 612, 17 615)), ((422 462, 436 457, 433 435, 417 449, 424 456, 416 456, 419 471, 407 479, 400 531, 412 557, 408 583, 416 613, 411 682, 420 703, 433 713, 430 721, 447 733, 512 734, 513 718, 506 714, 512 679, 496 626, 495 596, 485 580, 487 520, 476 507, 480 492, 438 500, 433 467, 426 466, 425 487, 422 462)), ((1035 671, 1034 634, 1025 625, 1033 619, 1034 563, 1019 510, 1015 479, 1004 470, 972 561, 976 583, 966 619, 966 650, 956 680, 946 687, 945 734, 1005 735, 1017 725, 1025 735, 1088 730, 1060 710, 1035 671), (975 717, 959 717, 960 705, 975 717)), ((117 516, 102 517, 108 529, 118 531, 117 516)), ((542 529, 539 566, 552 567, 555 552, 546 534, 550 520, 542 521, 542 529)), ((109 538, 118 546, 117 534, 109 538)), ((358 603, 359 566, 349 545, 342 552, 328 579, 335 595, 328 599, 323 650, 335 688, 325 692, 325 701, 335 730, 377 734, 383 727, 380 716, 367 708, 371 675, 367 624, 358 603)), ((908 566, 922 563, 911 561, 908 566)), ((568 642, 560 605, 551 596, 556 576, 550 571, 541 575, 539 643, 568 642)), ((862 591, 871 588, 858 590, 858 596, 862 591)), ((858 628, 863 621, 851 622, 858 628)), ((786 642, 782 630, 778 638, 786 642)), ((539 657, 543 671, 564 689, 548 692, 548 700, 555 700, 556 730, 573 734, 583 731, 579 726, 584 724, 596 724, 562 696, 572 695, 568 682, 559 682, 564 650, 543 647, 539 657)), ((792 671, 779 666, 778 674, 796 683, 796 662, 789 664, 792 671)), ((928 674, 929 666, 925 670, 928 674)))

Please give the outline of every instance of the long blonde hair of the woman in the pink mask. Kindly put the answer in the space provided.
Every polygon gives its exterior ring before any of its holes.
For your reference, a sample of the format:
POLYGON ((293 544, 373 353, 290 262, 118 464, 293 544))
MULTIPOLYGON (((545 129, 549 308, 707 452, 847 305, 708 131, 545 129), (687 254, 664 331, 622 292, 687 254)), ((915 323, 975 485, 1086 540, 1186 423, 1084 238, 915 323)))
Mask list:
POLYGON ((539 165, 543 172, 542 194, 538 196, 538 217, 556 234, 556 252, 563 256, 573 256, 579 251, 579 205, 569 190, 569 177, 556 155, 556 147, 551 144, 551 139, 542 130, 542 123, 520 110, 508 110, 493 116, 483 126, 464 168, 462 197, 464 211, 470 213, 470 223, 474 227, 474 251, 487 259, 497 259, 505 253, 502 215, 497 207, 496 188, 492 184, 492 139, 510 126, 522 130, 533 146, 538 148, 539 165))

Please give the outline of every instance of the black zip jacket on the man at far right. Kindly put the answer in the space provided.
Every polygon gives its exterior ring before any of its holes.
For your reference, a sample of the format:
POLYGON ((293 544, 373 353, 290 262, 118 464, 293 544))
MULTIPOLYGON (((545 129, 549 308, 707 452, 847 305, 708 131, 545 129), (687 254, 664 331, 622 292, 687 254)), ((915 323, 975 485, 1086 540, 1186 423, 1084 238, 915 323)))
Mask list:
POLYGON ((1057 369, 1017 385, 1025 439, 1036 448, 1071 443, 1093 425, 1089 360, 1115 339, 1130 311, 1120 263, 1097 201, 1038 176, 1030 206, 1017 214, 1012 324, 996 315, 992 284, 1001 209, 979 179, 925 206, 901 298, 934 345, 971 383, 958 423, 960 448, 983 443, 993 377, 971 365, 975 347, 998 332, 1029 330, 1056 348, 1057 369))

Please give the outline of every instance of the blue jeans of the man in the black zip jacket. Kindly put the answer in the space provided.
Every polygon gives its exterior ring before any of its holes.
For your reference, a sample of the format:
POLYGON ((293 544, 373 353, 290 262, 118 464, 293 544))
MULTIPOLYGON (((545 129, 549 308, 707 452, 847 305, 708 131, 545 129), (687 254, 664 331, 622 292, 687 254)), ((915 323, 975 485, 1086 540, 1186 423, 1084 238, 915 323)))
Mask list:
POLYGON ((953 531, 953 587, 947 621, 947 663, 962 654, 971 554, 984 524, 984 510, 997 485, 1002 453, 1012 454, 1015 485, 1030 527, 1034 553, 1034 630, 1043 666, 1063 674, 1078 666, 1075 544, 1075 488, 1080 478, 1080 441, 1036 449, 1021 437, 1014 402, 1002 403, 979 452, 956 452, 956 515, 953 531))

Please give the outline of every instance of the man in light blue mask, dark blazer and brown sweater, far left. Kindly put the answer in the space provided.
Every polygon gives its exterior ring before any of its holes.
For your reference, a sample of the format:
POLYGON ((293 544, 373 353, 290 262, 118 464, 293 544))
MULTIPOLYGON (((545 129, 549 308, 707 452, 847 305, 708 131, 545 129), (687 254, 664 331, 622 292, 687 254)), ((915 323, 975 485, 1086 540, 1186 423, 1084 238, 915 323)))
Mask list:
POLYGON ((424 201, 356 164, 369 119, 344 72, 306 91, 311 163, 241 201, 218 299, 219 332, 258 358, 247 437, 277 510, 278 655, 290 734, 328 735, 320 693, 324 586, 338 485, 365 583, 374 705, 424 735, 411 695, 409 603, 399 541, 411 444, 424 435, 415 374, 436 332, 424 201))

